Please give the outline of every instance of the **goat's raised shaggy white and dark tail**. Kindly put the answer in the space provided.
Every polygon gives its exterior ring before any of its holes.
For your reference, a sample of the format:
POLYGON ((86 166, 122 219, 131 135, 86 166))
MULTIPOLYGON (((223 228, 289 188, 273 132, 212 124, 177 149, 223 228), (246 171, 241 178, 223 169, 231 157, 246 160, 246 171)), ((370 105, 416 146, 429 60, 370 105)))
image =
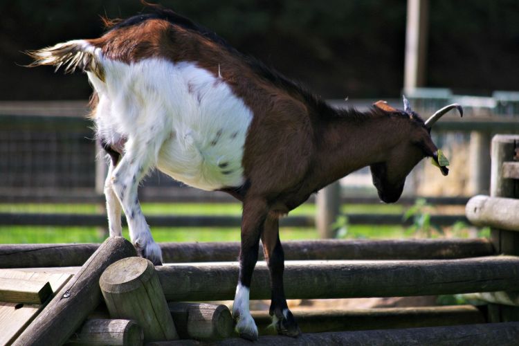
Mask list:
POLYGON ((56 66, 55 71, 64 66, 65 73, 73 73, 75 69, 94 73, 100 80, 104 81, 104 69, 96 54, 96 48, 82 39, 56 44, 37 51, 27 51, 34 62, 28 67, 40 65, 56 66))

